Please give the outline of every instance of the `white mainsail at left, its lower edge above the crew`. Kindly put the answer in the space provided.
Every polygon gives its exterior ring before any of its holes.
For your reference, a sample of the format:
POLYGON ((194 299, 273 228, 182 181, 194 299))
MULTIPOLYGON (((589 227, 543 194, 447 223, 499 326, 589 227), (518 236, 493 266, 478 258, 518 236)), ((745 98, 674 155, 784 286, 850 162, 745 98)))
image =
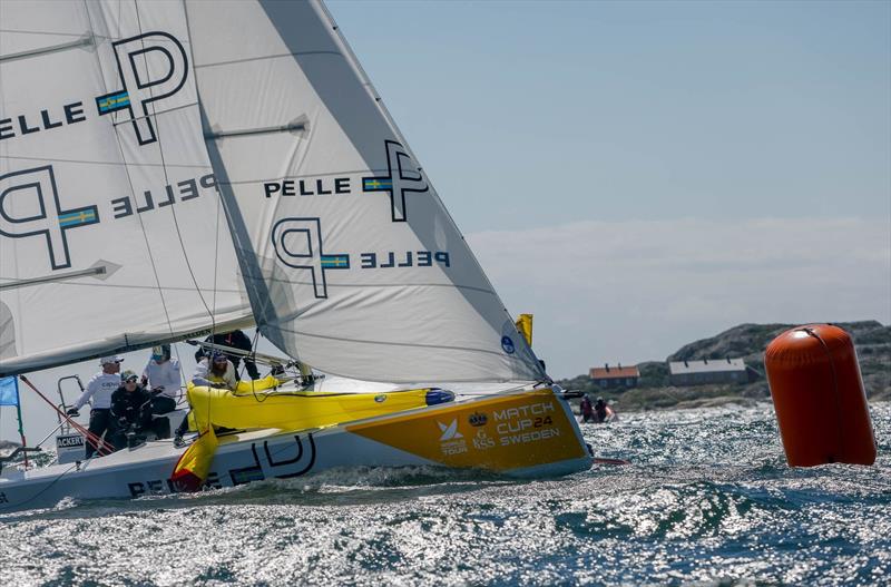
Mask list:
POLYGON ((0 374, 251 322, 182 2, 0 2, 0 374))

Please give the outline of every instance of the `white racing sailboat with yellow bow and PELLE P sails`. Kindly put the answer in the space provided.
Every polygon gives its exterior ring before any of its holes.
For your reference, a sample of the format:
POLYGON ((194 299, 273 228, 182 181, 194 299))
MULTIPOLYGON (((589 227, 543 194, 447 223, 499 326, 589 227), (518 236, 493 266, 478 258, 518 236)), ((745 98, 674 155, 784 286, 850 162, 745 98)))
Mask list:
MULTIPOLYGON (((4 0, 0 22, 0 376, 256 326, 303 371, 190 390, 204 487, 590 467, 321 2, 4 0), (302 408, 244 425, 236 395, 302 408), (241 428, 215 434, 224 412, 241 428)), ((196 444, 7 469, 0 510, 175 492, 196 444)))

